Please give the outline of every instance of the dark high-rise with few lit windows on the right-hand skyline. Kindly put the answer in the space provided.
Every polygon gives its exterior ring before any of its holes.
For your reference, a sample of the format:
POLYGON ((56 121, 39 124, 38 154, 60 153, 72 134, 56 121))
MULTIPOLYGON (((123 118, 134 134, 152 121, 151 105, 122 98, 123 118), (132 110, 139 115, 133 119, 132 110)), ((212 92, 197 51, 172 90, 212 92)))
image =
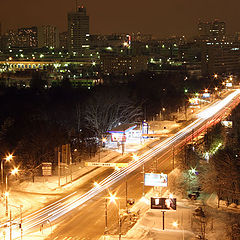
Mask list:
POLYGON ((213 22, 198 23, 198 34, 200 39, 208 41, 223 41, 226 37, 225 22, 215 20, 213 22))

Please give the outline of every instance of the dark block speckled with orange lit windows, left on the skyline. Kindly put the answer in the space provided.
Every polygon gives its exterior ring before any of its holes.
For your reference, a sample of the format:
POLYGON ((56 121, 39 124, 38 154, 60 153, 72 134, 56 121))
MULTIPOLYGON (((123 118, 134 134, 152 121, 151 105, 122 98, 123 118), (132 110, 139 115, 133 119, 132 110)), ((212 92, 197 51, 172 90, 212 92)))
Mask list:
POLYGON ((38 28, 37 27, 19 28, 17 46, 24 48, 37 48, 38 28))

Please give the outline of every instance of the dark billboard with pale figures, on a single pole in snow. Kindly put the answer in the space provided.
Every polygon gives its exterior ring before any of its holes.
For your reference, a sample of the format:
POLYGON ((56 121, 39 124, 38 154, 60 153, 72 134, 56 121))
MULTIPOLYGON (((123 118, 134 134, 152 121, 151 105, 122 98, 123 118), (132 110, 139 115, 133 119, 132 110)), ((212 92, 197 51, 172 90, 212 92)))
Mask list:
POLYGON ((160 210, 176 210, 177 199, 176 198, 151 198, 151 209, 160 210))

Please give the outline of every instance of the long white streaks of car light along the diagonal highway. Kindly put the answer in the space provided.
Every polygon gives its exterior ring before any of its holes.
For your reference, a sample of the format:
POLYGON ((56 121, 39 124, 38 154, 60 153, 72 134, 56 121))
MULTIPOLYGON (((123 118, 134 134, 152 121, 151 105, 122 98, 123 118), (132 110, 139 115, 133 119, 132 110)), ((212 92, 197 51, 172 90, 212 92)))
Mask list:
MULTIPOLYGON (((75 209, 76 207, 79 207, 80 205, 90 200, 97 194, 108 189, 111 185, 117 183, 127 174, 135 171, 137 168, 142 166, 142 164, 151 160, 154 156, 157 156, 168 147, 172 146, 173 144, 176 144, 176 142, 183 139, 185 139, 185 142, 189 141, 193 136, 203 131, 203 129, 212 126, 213 124, 216 124, 221 120, 221 115, 224 114, 227 105, 234 107, 240 102, 239 98, 236 98, 239 94, 240 90, 235 90, 225 99, 216 102, 208 109, 202 111, 197 115, 198 119, 193 121, 191 124, 177 132, 172 137, 165 139, 164 141, 160 142, 153 148, 143 153, 141 156, 139 156, 138 160, 132 160, 131 162, 129 162, 128 167, 122 168, 120 171, 115 170, 112 174, 110 174, 108 177, 99 182, 98 186, 93 187, 92 189, 82 194, 81 196, 77 196, 77 192, 74 192, 66 196, 65 198, 56 201, 55 203, 52 203, 44 207, 43 209, 40 209, 24 217, 23 218, 24 235, 26 235, 30 231, 33 231, 35 227, 45 223, 46 221, 52 222, 62 217, 64 214, 70 212, 71 210, 75 209), (210 120, 210 118, 213 119, 210 120), (205 126, 203 124, 205 124, 205 126), (197 129, 196 133, 189 136, 193 129, 197 129), (72 199, 73 197, 75 198, 72 199)), ((15 222, 16 221, 19 221, 19 219, 16 219, 15 222)), ((4 227, 4 225, 6 224, 7 223, 0 225, 0 228, 4 227)), ((12 230, 13 230, 12 239, 19 239, 20 233, 17 230, 17 227, 13 225, 12 230)))

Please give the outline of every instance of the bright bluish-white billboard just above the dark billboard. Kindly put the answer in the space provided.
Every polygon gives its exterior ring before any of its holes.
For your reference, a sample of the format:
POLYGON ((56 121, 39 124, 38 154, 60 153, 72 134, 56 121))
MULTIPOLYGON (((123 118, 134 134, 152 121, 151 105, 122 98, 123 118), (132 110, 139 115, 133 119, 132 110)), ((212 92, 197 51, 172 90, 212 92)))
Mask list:
POLYGON ((167 187, 168 176, 167 174, 157 173, 145 173, 144 174, 144 185, 145 186, 156 186, 156 187, 167 187))

